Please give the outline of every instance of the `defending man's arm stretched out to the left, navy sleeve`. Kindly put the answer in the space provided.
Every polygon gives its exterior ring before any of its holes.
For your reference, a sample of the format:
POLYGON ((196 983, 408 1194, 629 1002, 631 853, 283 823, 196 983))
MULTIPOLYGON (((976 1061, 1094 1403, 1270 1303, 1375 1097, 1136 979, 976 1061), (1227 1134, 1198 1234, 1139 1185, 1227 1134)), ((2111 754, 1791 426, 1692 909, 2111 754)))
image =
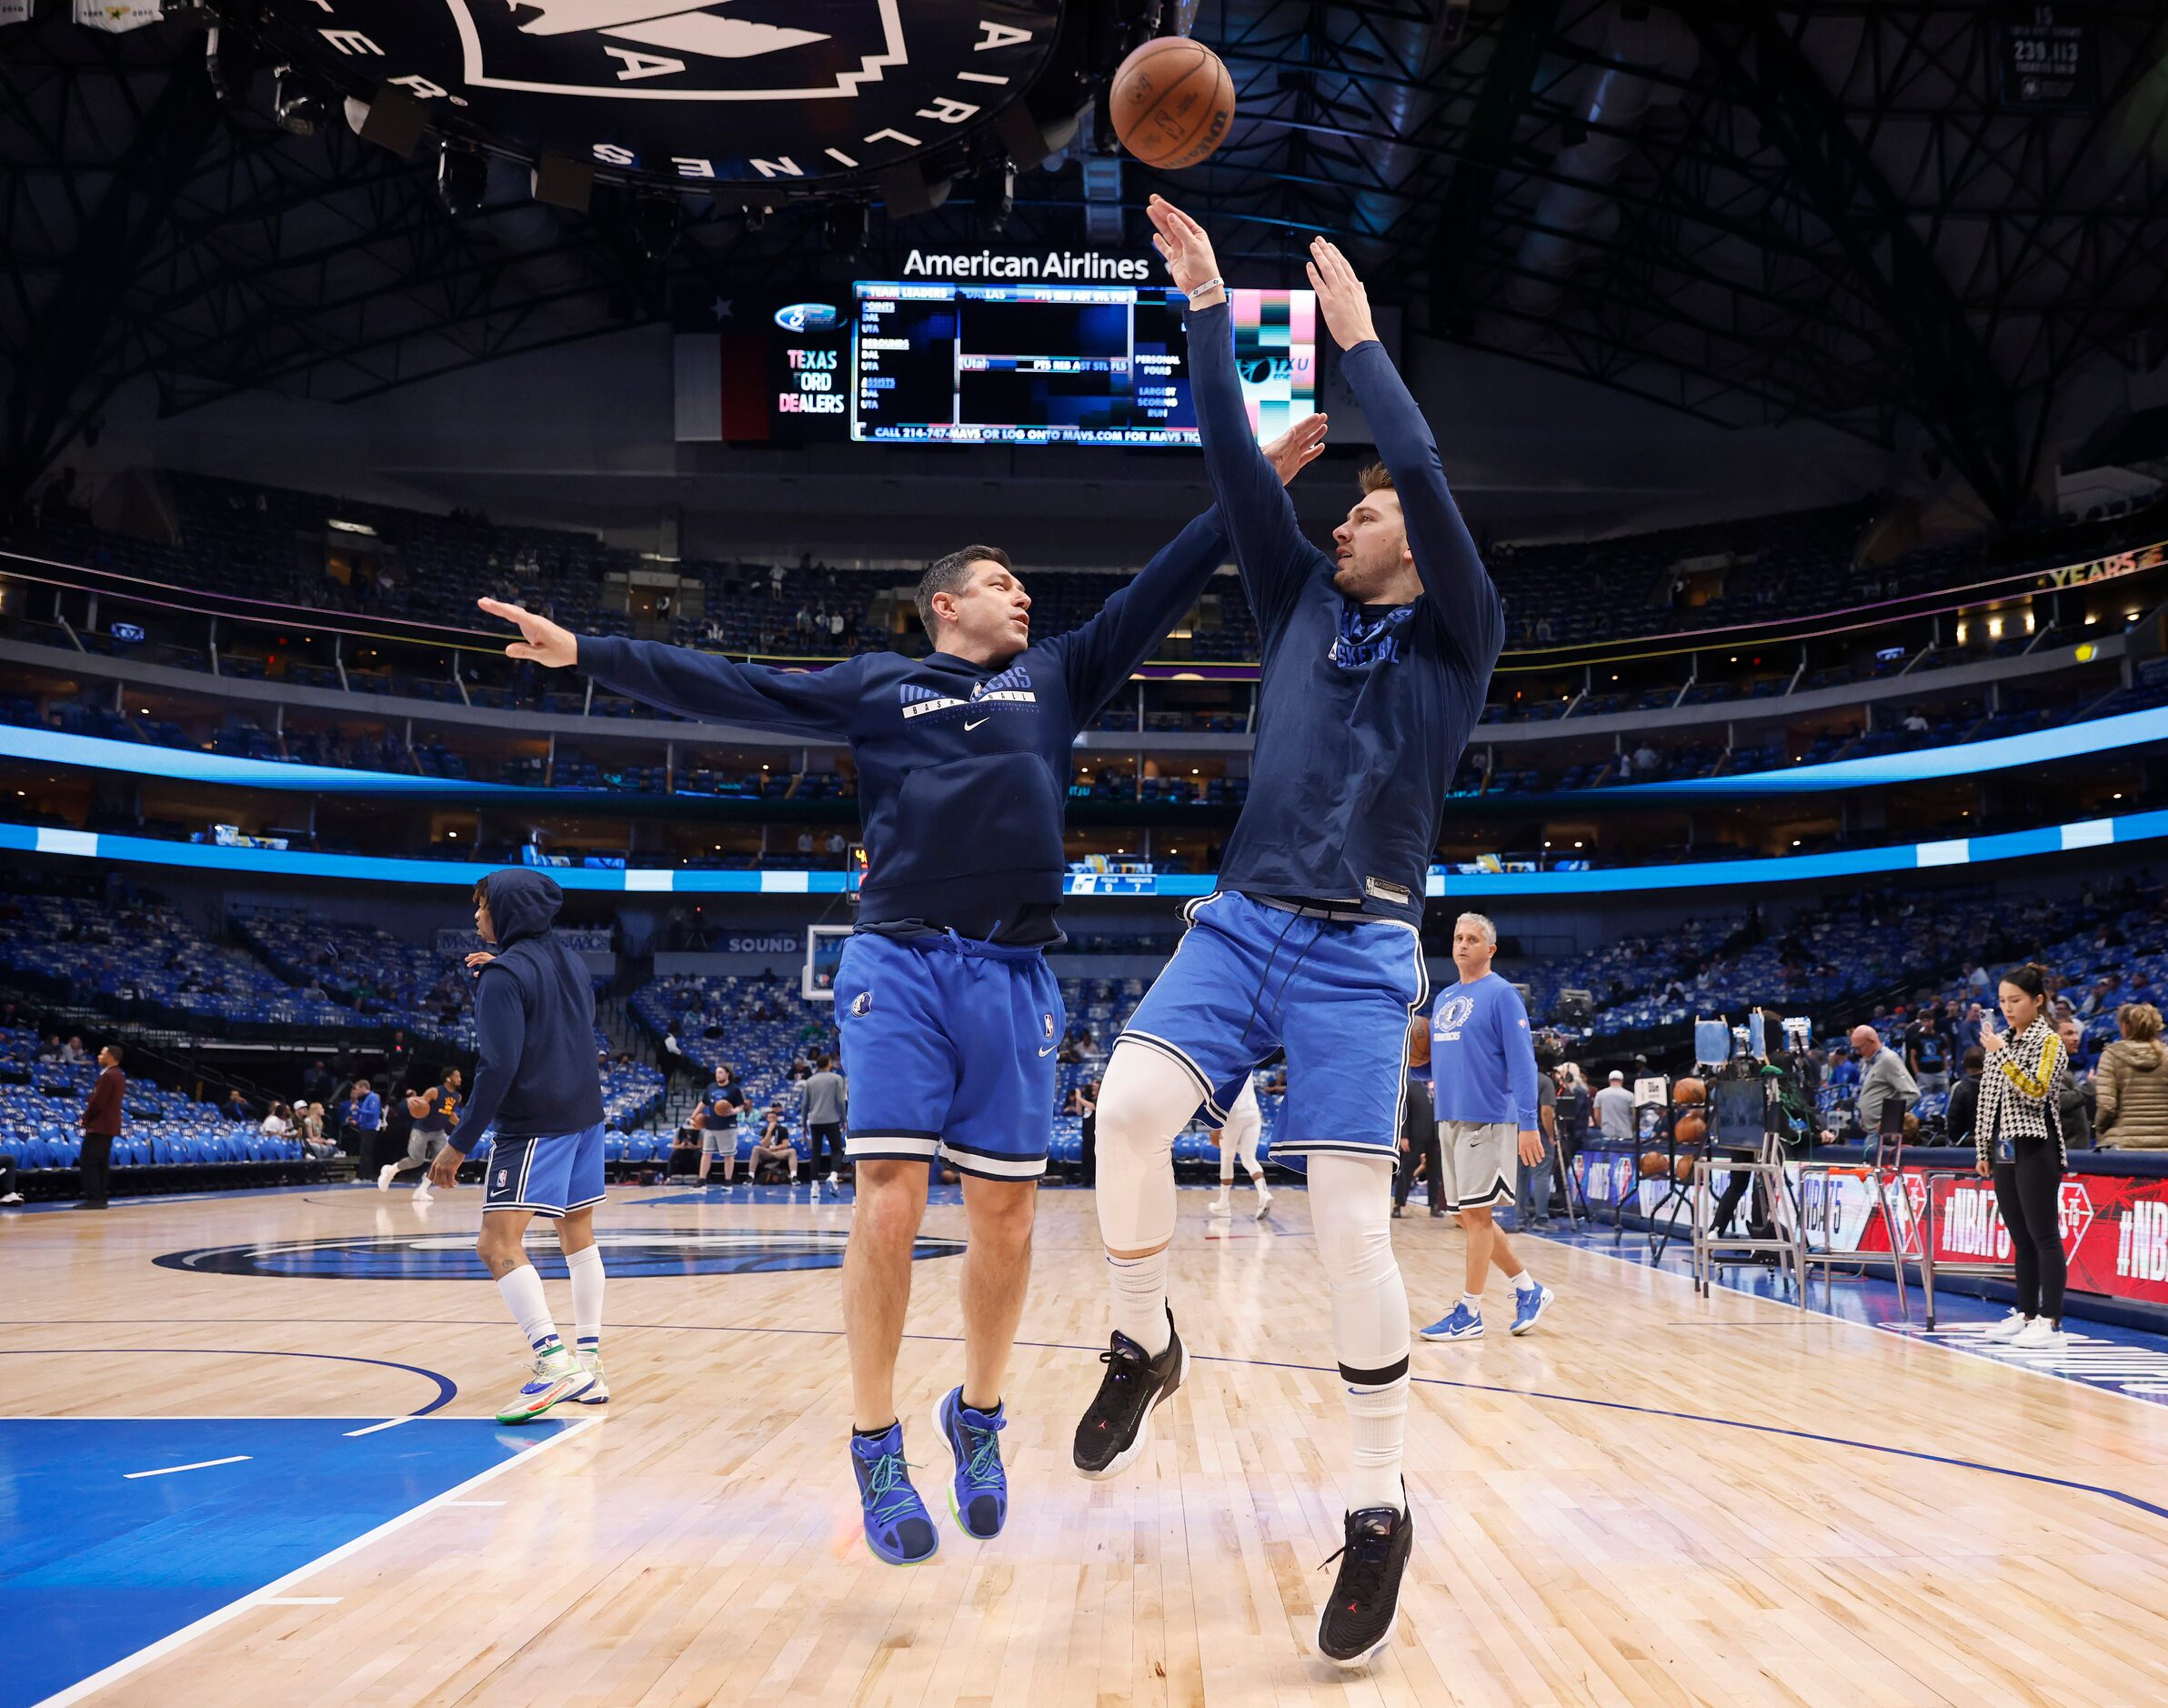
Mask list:
POLYGON ((518 624, 520 639, 505 648, 507 659, 551 670, 579 665, 603 687, 685 717, 841 739, 850 735, 859 707, 859 676, 865 668, 859 659, 843 659, 826 670, 770 670, 689 646, 575 635, 564 624, 501 598, 477 598, 475 605, 518 624))

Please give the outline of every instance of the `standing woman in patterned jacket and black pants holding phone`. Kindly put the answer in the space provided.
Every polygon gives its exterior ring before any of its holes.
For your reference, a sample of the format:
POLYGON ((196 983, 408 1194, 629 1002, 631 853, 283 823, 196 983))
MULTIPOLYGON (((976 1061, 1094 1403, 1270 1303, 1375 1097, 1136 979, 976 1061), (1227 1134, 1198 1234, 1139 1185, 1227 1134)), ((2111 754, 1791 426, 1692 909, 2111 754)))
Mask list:
POLYGON ((1986 1331, 1986 1340, 2016 1348, 2062 1344, 2062 1170, 2068 1162, 2062 1134, 2062 1084, 2070 1062, 2047 1019, 2047 969, 2025 962, 2003 973, 2001 1010, 1979 1023, 1986 1073, 1979 1079, 1979 1118, 1973 1142, 1979 1173, 1995 1181, 1995 1203, 2010 1229, 2018 1303, 1986 1331))

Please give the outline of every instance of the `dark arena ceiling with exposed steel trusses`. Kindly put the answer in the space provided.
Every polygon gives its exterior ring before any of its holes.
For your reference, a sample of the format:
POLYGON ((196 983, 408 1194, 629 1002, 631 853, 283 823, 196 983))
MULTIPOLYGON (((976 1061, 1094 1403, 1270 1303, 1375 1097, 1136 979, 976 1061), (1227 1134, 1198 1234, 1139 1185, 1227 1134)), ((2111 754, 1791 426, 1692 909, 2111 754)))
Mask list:
MULTIPOLYGON (((1917 420, 1999 514, 2079 366, 2168 351, 2157 0, 1203 0, 1192 35, 1240 95, 1205 167, 1114 171, 1086 119, 1004 215, 1015 132, 989 126, 921 163, 954 186, 911 217, 863 173, 685 193, 605 171, 568 212, 509 160, 453 215, 434 137, 401 158, 336 100, 310 137, 278 124, 254 33, 275 11, 104 35, 43 0, 0 26, 0 486, 143 375, 169 412, 251 386, 360 399, 659 319, 679 282, 863 275, 911 245, 1136 251, 1151 191, 1253 275, 1294 280, 1327 232, 1416 332, 1708 420, 1880 444, 1917 420), (2014 61, 2005 22, 2042 13, 2081 20, 2075 67, 2014 61)), ((1056 137, 1156 11, 1067 0, 1032 93, 1056 137)))

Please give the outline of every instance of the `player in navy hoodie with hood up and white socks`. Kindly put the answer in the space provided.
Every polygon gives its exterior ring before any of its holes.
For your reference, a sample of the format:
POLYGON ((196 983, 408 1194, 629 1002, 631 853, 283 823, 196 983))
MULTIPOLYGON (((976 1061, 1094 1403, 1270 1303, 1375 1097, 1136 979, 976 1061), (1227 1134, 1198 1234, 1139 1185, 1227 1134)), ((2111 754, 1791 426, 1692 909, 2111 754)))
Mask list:
POLYGON ((594 984, 551 930, 564 891, 542 871, 514 867, 475 884, 475 932, 494 954, 475 967, 475 1097, 466 1121, 429 1164, 451 1186, 460 1164, 494 1123, 496 1142, 481 1183, 475 1251, 533 1348, 533 1376, 496 1413, 525 1424, 553 1405, 609 1398, 603 1376, 603 1253, 594 1205, 603 1201, 603 1082, 594 1071, 594 984), (542 1277, 527 1261, 527 1225, 557 1222, 557 1248, 572 1272, 572 1331, 557 1335, 542 1277))

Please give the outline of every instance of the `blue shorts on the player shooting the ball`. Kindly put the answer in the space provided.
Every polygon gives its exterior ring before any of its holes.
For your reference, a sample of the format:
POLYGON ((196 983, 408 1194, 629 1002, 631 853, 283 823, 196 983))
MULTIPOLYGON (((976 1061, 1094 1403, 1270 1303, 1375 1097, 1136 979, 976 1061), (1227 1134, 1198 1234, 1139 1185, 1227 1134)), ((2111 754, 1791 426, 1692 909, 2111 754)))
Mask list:
POLYGON ((1288 1051, 1275 1157, 1394 1155, 1407 1097, 1407 1032, 1431 995, 1422 939, 1398 919, 1325 919, 1218 891, 1184 908, 1188 930, 1119 1043, 1156 1049, 1227 1125, 1242 1079, 1288 1051))

